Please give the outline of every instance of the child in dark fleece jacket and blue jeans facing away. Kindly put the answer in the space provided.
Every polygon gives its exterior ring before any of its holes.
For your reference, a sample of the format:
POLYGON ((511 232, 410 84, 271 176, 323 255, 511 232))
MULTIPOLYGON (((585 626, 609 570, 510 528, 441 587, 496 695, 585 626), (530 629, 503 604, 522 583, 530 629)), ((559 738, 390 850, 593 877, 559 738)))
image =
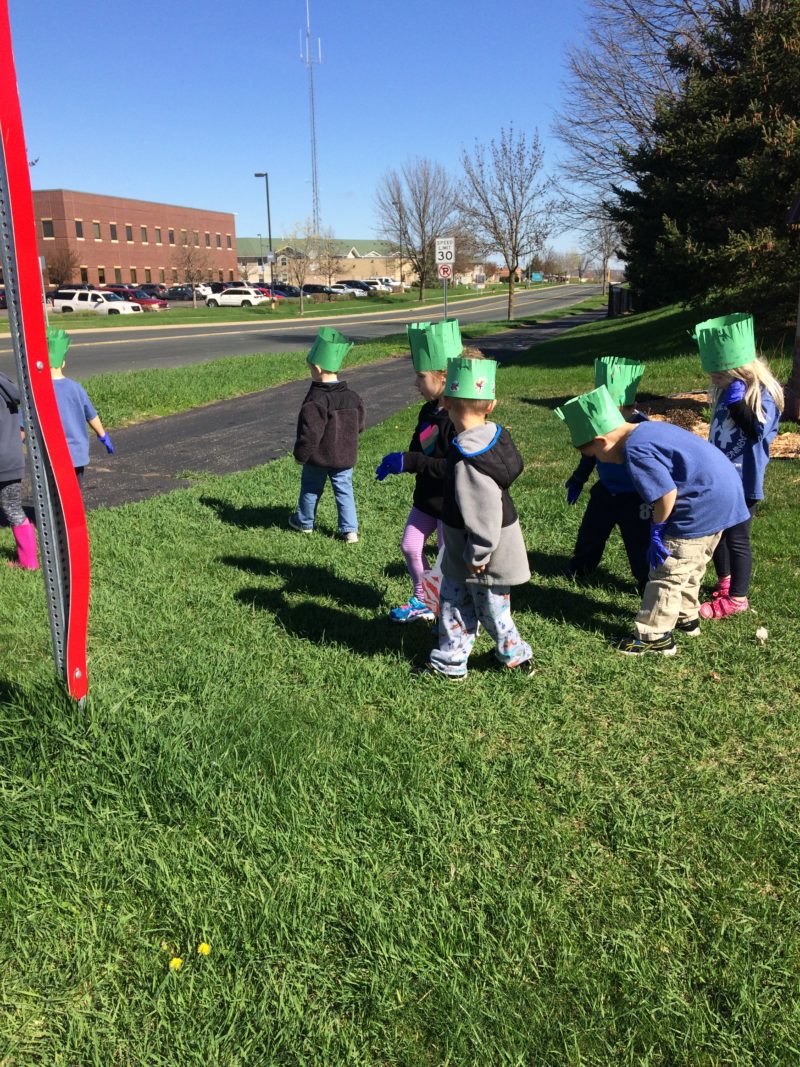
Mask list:
POLYGON ((364 404, 337 373, 352 347, 338 330, 322 327, 306 356, 311 387, 300 409, 294 442, 294 459, 303 464, 303 473, 298 510, 289 516, 293 530, 310 534, 330 478, 339 536, 349 544, 358 540, 353 467, 358 456, 358 434, 364 430, 364 404))

